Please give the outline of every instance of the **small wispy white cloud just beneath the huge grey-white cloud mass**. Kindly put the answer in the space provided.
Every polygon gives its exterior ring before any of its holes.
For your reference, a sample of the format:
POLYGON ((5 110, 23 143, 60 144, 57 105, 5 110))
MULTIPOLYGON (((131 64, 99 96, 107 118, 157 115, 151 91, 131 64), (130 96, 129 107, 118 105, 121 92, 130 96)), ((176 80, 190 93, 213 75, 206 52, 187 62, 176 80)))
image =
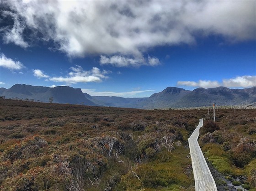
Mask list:
POLYGON ((102 56, 100 58, 101 65, 109 64, 115 67, 139 67, 142 65, 146 66, 157 66, 160 64, 160 61, 156 57, 148 57, 148 60, 143 57, 124 57, 124 56, 112 56, 106 57, 102 56))

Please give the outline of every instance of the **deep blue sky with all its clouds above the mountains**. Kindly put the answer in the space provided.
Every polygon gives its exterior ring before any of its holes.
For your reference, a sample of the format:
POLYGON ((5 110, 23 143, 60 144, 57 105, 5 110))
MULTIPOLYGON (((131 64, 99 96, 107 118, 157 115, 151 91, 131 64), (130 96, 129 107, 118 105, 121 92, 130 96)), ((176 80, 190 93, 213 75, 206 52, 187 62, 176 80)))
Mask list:
POLYGON ((149 97, 256 86, 256 0, 1 0, 0 87, 149 97))

